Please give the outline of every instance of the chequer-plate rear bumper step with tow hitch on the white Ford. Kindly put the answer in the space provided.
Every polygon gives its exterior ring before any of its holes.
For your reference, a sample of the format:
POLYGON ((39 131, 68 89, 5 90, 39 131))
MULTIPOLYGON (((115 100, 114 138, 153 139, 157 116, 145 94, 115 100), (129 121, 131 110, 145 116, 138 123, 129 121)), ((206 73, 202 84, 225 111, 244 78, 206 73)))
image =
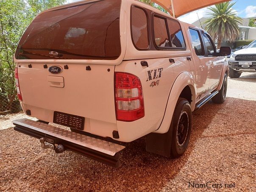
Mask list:
POLYGON ((15 131, 40 139, 43 146, 51 145, 53 147, 58 147, 59 145, 62 145, 64 150, 79 153, 113 167, 120 167, 120 151, 124 149, 125 146, 78 134, 27 118, 14 120, 13 124, 15 125, 15 131), (47 141, 46 145, 44 141, 47 141))

